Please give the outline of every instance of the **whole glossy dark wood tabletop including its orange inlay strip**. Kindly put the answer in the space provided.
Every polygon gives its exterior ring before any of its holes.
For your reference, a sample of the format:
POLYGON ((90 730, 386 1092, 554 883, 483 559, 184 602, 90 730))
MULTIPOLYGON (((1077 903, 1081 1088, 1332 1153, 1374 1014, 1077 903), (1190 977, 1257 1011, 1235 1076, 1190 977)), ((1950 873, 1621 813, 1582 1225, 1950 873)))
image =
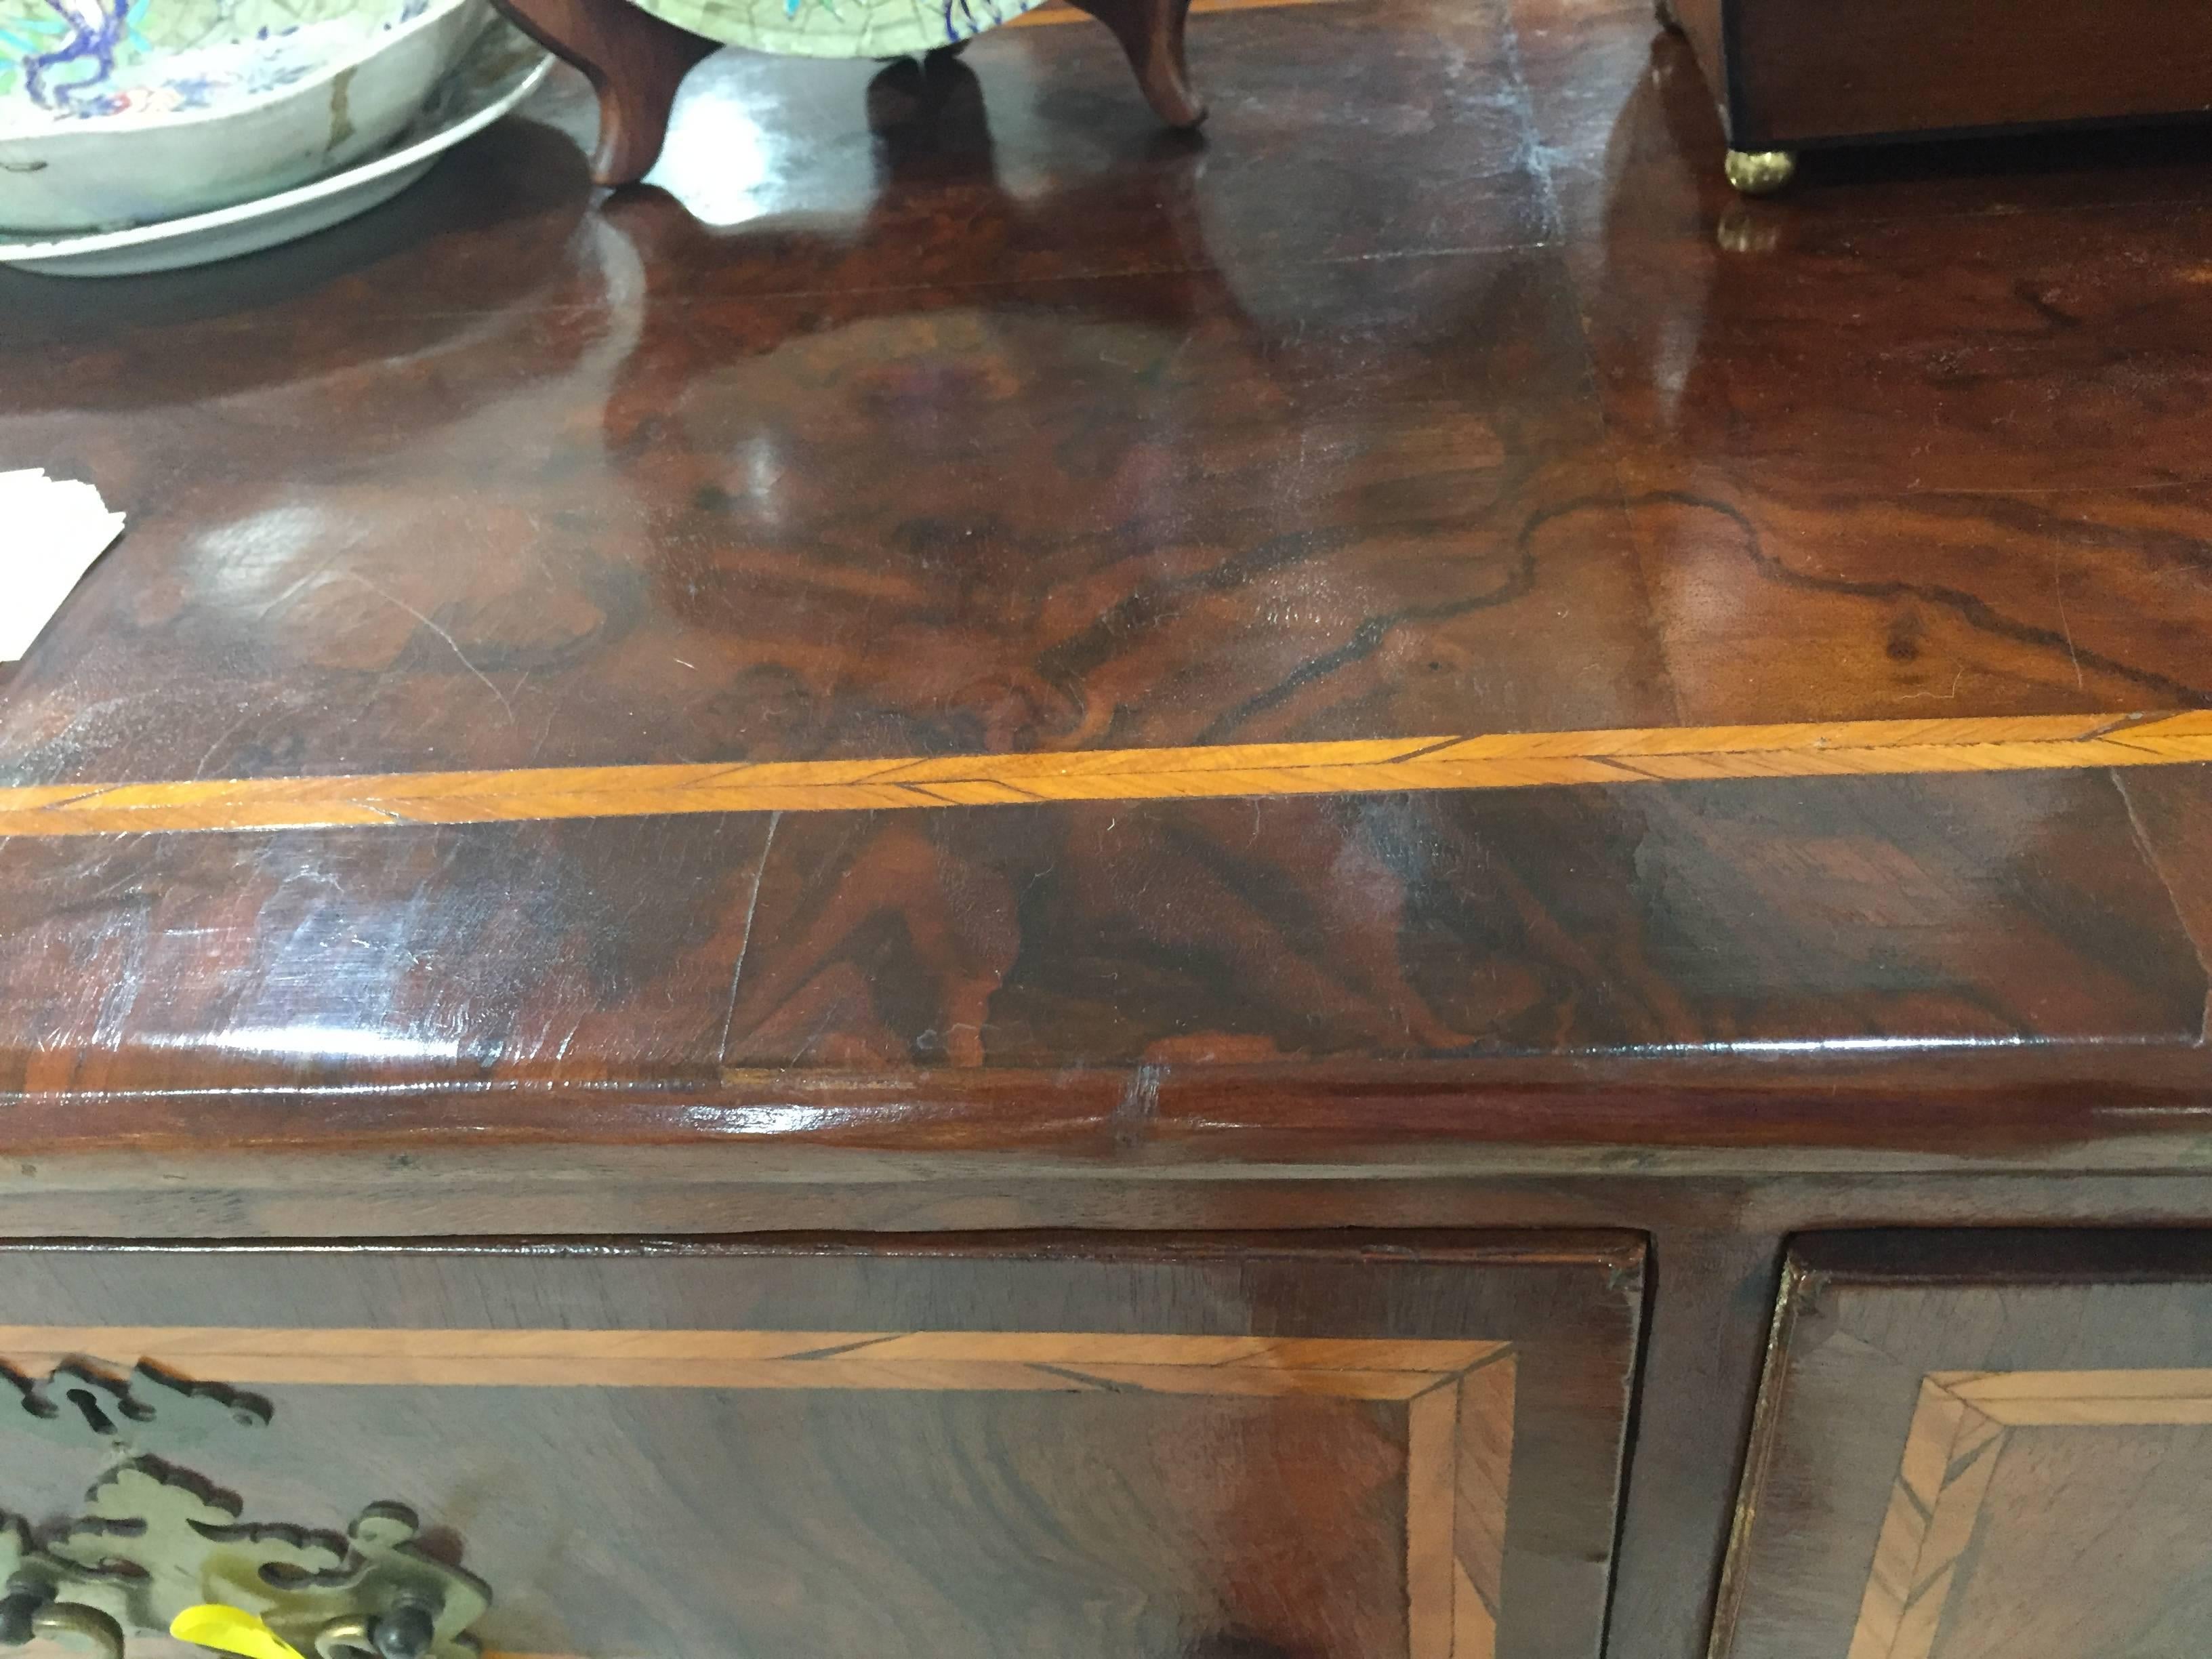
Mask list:
POLYGON ((1199 0, 1203 137, 1057 15, 0 272, 131 515, 0 679, 0 1139, 2212 1113, 2212 131, 1747 204, 1641 0, 1199 0))

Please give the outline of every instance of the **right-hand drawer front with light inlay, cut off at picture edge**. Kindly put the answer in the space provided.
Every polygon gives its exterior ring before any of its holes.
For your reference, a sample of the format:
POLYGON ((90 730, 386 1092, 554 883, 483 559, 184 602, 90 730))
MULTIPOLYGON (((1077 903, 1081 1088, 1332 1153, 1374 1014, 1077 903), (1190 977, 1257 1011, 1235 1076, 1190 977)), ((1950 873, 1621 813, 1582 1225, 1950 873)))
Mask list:
POLYGON ((1803 1241, 1714 1655, 2201 1652, 2208 1491, 2203 1234, 1803 1241))

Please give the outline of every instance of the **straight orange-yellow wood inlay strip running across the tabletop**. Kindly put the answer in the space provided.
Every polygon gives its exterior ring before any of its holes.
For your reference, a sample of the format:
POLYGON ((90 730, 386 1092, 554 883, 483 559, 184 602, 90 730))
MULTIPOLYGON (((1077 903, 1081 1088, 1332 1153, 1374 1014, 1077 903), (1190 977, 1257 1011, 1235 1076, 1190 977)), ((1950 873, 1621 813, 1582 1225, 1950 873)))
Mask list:
POLYGON ((586 765, 0 790, 0 836, 858 812, 2212 761, 2212 712, 1668 726, 1349 743, 586 765))

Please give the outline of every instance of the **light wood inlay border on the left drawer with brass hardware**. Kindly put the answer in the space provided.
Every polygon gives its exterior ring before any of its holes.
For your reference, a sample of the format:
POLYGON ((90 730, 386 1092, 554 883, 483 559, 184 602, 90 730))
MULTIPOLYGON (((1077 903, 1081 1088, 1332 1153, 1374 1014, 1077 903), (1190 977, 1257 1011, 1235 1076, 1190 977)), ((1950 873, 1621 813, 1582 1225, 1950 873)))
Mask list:
POLYGON ((62 1360, 128 1371, 142 1358, 237 1387, 907 1389, 1405 1402, 1407 1655, 1495 1659, 1513 1449, 1511 1343, 1128 1332, 0 1325, 0 1371, 24 1380, 62 1360), (1478 1513, 1464 1537, 1462 1506, 1478 1513))

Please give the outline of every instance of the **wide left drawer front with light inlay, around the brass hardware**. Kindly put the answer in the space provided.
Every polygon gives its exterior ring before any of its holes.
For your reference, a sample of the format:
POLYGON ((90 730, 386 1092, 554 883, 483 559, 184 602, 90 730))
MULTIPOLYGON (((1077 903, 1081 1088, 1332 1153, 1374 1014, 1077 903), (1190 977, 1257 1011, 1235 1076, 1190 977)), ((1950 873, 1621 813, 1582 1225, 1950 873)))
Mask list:
POLYGON ((347 1571, 389 1601, 363 1513, 509 1655, 1599 1646, 1621 1237, 4 1254, 0 1504, 144 1568, 55 1590, 131 1655, 192 1599, 299 1648, 347 1571))

